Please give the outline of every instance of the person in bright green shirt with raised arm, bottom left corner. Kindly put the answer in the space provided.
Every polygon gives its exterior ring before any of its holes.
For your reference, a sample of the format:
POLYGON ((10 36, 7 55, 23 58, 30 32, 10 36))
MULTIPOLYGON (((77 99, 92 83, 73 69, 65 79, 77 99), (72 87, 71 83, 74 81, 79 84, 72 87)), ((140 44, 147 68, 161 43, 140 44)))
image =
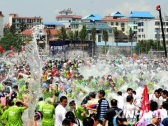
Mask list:
POLYGON ((21 100, 8 101, 9 108, 5 110, 0 120, 6 119, 6 126, 22 126, 22 113, 25 109, 28 108, 26 104, 24 104, 21 100), (20 103, 23 107, 18 107, 15 103, 20 103))

